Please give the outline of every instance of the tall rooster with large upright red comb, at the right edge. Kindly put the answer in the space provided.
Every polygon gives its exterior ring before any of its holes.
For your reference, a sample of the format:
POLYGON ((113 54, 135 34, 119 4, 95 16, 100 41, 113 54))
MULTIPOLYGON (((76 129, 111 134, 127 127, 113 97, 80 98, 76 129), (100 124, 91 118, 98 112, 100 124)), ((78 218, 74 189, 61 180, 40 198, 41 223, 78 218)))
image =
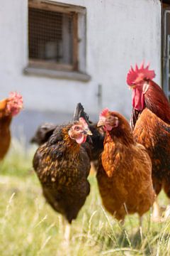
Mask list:
MULTIPOLYGON (((154 70, 149 70, 149 65, 145 67, 144 63, 140 68, 137 65, 130 68, 127 76, 132 88, 130 124, 136 141, 146 147, 152 160, 155 192, 159 195, 164 188, 170 198, 170 105, 162 88, 153 81, 154 77, 154 70)), ((152 218, 161 218, 157 201, 152 218)))

